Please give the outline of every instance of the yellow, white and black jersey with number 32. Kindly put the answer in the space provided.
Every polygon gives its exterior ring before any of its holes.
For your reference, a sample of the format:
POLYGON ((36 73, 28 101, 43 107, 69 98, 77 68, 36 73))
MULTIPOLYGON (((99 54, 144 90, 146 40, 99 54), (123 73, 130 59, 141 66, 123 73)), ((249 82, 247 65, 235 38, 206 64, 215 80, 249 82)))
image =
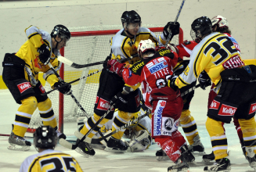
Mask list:
POLYGON ((189 65, 177 77, 175 84, 178 88, 191 84, 205 70, 217 87, 222 81, 220 73, 223 70, 239 66, 244 66, 244 63, 233 41, 225 34, 214 32, 193 48, 189 65))

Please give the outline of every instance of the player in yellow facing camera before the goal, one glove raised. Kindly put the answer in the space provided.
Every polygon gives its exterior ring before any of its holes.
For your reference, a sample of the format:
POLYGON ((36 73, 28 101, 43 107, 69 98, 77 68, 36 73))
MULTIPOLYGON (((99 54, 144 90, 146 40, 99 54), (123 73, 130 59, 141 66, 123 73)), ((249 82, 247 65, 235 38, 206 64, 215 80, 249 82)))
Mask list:
MULTIPOLYGON (((137 55, 137 48, 139 41, 151 39, 156 45, 164 45, 166 39, 168 38, 170 23, 164 27, 163 33, 157 37, 153 32, 145 27, 141 27, 141 17, 134 10, 125 11, 121 16, 121 23, 123 29, 119 30, 117 34, 111 39, 111 53, 110 56, 106 58, 109 59, 128 59, 126 63, 132 64, 139 60, 138 57, 129 59, 131 56, 137 55)), ((106 64, 104 65, 106 66, 106 64)), ((125 87, 129 87, 125 85, 125 87)), ((96 104, 94 108, 94 115, 87 120, 84 127, 81 129, 81 134, 86 134, 93 126, 96 124, 96 121, 99 120, 100 116, 103 116, 106 113, 107 109, 110 107, 110 101, 114 102, 116 106, 114 109, 119 109, 118 115, 114 118, 114 123, 112 131, 115 131, 118 127, 121 127, 123 124, 127 124, 128 121, 139 113, 139 101, 140 95, 137 88, 132 87, 128 95, 123 95, 121 92, 124 88, 124 81, 116 73, 111 73, 110 70, 103 70, 99 78, 99 90, 97 92, 96 104), (120 99, 128 100, 127 104, 124 104, 120 99), (104 105, 104 106, 102 106, 104 105)), ((95 151, 88 144, 89 139, 92 138, 100 127, 103 126, 108 120, 112 119, 114 114, 114 109, 111 109, 111 112, 104 118, 98 127, 92 131, 91 134, 88 134, 87 142, 82 143, 83 145, 78 145, 78 149, 81 149, 80 152, 93 156, 95 151), (91 151, 86 151, 90 149, 91 151)), ((121 137, 124 134, 124 130, 113 134, 110 140, 107 142, 109 148, 116 150, 118 152, 124 152, 128 149, 128 145, 124 144, 121 141, 121 137)))

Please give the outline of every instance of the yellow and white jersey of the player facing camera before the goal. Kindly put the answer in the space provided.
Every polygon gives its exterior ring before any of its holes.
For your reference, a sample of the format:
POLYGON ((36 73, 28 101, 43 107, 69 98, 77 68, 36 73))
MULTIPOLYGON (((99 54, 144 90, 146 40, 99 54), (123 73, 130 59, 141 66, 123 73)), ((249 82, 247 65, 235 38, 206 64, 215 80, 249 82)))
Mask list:
MULTIPOLYGON (((125 59, 131 56, 136 55, 137 47, 139 45, 139 41, 141 40, 152 40, 157 45, 163 45, 165 41, 163 41, 160 36, 156 36, 153 34, 150 29, 146 27, 140 27, 138 30, 138 34, 135 35, 134 38, 128 38, 124 36, 122 33, 124 29, 121 29, 111 38, 111 52, 112 52, 112 59, 125 59), (162 43, 164 42, 164 43, 162 43)), ((139 60, 139 57, 133 58, 128 63, 133 64, 139 60)))

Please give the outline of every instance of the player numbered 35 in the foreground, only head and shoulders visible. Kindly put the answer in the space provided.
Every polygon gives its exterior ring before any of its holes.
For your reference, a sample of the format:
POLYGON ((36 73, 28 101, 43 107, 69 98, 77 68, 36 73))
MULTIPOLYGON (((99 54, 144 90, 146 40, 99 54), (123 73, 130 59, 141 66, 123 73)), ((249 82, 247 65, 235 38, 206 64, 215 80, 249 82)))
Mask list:
POLYGON ((34 147, 37 154, 28 156, 20 166, 20 172, 72 171, 82 172, 78 161, 67 153, 56 151, 56 131, 50 126, 41 126, 34 132, 34 147))

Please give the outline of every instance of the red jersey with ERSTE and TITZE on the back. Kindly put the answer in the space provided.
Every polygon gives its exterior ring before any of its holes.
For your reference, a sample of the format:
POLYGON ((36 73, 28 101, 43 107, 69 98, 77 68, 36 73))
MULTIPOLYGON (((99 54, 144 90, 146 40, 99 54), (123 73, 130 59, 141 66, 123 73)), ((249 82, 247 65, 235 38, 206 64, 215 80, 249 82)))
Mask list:
POLYGON ((168 78, 173 74, 172 68, 176 65, 178 56, 167 48, 160 49, 153 57, 142 59, 130 68, 124 68, 124 82, 129 85, 141 83, 145 105, 151 109, 150 92, 154 88, 164 88, 168 78))

